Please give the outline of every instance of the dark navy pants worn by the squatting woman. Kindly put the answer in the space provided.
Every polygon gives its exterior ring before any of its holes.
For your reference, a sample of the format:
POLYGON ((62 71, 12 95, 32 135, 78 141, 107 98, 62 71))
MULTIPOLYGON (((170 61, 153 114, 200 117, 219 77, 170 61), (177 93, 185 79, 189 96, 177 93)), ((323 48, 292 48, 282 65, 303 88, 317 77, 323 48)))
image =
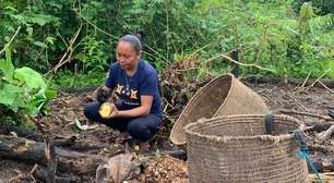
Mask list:
POLYGON ((93 102, 85 106, 85 117, 94 122, 105 124, 120 132, 128 132, 141 142, 148 142, 162 124, 162 119, 155 114, 139 118, 103 119, 99 113, 99 103, 93 102))

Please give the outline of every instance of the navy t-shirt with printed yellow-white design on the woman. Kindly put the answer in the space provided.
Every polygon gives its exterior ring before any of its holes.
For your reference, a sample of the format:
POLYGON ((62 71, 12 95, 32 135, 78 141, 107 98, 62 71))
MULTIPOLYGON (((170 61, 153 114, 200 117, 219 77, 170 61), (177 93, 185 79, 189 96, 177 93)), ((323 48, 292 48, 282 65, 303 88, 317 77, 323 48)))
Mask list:
POLYGON ((128 76, 118 62, 112 63, 105 85, 116 91, 119 110, 129 110, 141 106, 141 96, 153 96, 151 112, 162 117, 162 99, 158 90, 156 70, 143 60, 139 61, 136 72, 128 76))

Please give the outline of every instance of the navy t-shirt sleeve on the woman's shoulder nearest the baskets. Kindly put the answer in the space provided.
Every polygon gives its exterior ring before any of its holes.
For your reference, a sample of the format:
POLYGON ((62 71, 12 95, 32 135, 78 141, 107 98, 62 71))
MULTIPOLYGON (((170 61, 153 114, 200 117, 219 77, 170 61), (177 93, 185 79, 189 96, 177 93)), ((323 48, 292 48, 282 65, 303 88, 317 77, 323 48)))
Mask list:
POLYGON ((140 93, 141 95, 146 95, 146 96, 155 96, 158 94, 158 77, 157 73, 152 73, 148 74, 141 87, 140 87, 140 93))

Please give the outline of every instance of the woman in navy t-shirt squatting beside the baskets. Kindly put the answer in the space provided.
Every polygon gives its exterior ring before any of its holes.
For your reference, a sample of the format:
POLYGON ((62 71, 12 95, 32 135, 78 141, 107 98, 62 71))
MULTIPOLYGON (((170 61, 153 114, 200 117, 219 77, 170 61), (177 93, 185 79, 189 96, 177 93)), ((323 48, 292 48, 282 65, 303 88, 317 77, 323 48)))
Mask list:
POLYGON ((97 101, 85 106, 87 119, 119 130, 140 139, 142 150, 150 148, 150 139, 162 123, 160 95, 156 70, 142 60, 142 45, 138 37, 126 35, 117 45, 118 62, 111 64, 105 85, 98 90, 97 101), (108 118, 98 113, 115 89, 117 100, 108 118))

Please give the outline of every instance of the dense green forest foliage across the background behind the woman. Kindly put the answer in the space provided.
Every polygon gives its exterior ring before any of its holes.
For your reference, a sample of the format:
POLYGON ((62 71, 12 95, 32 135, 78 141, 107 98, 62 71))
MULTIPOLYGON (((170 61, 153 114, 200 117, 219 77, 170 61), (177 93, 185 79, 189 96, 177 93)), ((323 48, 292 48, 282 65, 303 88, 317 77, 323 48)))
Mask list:
MULTIPOLYGON (((240 62, 275 71, 242 66, 244 75, 281 77, 287 70, 295 77, 310 71, 318 77, 333 62, 333 0, 3 0, 0 46, 21 26, 11 44, 13 62, 39 72, 51 70, 69 48, 67 75, 53 78, 70 86, 85 85, 73 73, 79 78, 106 73, 118 38, 139 29, 145 33, 144 58, 158 70, 198 50, 196 59, 206 61, 238 48, 240 62)), ((220 74, 229 64, 217 57, 194 75, 220 74)))

